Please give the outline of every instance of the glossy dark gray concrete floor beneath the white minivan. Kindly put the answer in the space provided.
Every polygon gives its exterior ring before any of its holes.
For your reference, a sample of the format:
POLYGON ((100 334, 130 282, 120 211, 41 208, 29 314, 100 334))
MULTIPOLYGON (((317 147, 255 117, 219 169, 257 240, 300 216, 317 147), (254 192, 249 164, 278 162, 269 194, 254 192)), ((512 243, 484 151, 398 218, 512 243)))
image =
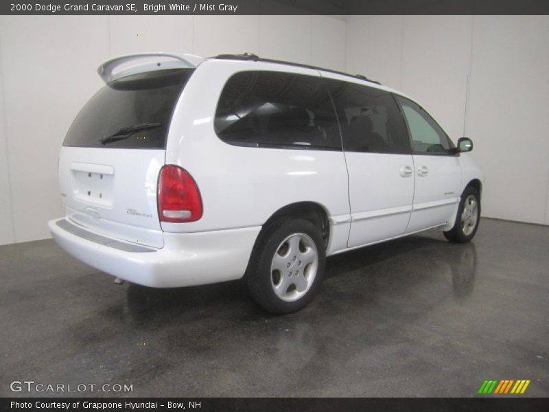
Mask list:
POLYGON ((484 379, 549 396, 549 227, 484 219, 471 244, 429 231, 329 258, 320 294, 285 317, 239 282, 117 286, 52 240, 0 247, 0 262, 2 396, 28 396, 14 380, 132 385, 125 396, 474 396, 484 379))

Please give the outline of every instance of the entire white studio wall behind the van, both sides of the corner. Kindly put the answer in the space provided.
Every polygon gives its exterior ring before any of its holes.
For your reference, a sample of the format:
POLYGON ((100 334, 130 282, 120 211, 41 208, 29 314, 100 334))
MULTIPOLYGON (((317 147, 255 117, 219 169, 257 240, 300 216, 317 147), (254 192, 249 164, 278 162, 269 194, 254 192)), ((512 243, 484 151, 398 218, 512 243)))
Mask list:
POLYGON ((62 216, 65 133, 119 54, 250 52, 362 73, 474 139, 483 215, 549 224, 549 16, 0 16, 0 244, 62 216))

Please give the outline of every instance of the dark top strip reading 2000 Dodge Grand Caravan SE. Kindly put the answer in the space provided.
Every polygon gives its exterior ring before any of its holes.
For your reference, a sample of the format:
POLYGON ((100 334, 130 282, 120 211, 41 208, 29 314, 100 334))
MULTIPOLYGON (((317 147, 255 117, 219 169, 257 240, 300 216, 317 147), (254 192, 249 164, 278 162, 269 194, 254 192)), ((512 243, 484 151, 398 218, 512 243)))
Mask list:
POLYGON ((0 14, 549 14, 548 0, 9 0, 0 14))

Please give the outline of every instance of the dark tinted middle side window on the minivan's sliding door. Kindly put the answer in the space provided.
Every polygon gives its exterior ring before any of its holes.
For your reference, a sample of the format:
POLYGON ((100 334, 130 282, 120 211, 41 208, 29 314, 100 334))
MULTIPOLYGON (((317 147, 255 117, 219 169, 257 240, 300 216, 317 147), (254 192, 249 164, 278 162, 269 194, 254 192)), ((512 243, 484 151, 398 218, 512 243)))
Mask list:
POLYGON ((343 148, 348 152, 410 153, 410 139, 390 93, 348 82, 331 90, 338 112, 343 148))

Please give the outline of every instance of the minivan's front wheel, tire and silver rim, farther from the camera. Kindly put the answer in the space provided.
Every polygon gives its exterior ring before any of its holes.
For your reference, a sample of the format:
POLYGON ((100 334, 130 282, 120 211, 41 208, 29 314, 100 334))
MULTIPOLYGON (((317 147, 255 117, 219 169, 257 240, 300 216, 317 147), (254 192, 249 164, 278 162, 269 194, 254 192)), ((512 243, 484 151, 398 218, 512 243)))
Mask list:
POLYGON ((474 187, 467 186, 461 195, 454 227, 444 232, 445 238, 453 243, 465 243, 474 238, 480 222, 480 194, 474 187))

